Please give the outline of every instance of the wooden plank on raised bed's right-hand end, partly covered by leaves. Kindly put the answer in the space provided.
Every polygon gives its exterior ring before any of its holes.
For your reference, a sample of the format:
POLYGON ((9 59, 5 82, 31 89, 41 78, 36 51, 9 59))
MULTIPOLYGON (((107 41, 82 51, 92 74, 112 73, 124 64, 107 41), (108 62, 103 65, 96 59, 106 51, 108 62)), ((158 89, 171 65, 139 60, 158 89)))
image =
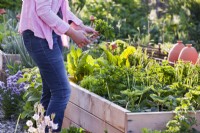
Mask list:
MULTIPOLYGON (((192 114, 194 116, 194 113, 192 114)), ((165 129, 168 121, 173 119, 173 112, 150 112, 150 113, 127 113, 127 133, 141 133, 143 128, 162 130, 165 129)), ((196 114, 200 123, 200 113, 196 114)), ((196 126, 200 129, 200 126, 196 126)))

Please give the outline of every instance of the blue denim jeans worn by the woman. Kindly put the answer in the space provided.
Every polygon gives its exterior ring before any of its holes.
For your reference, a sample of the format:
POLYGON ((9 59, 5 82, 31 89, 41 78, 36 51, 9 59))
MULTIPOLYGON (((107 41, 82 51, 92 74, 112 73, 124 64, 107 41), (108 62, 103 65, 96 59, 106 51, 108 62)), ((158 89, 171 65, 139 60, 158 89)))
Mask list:
POLYGON ((54 123, 62 127, 64 111, 69 101, 71 89, 62 55, 61 37, 53 32, 53 49, 49 49, 46 39, 34 36, 31 30, 23 32, 24 45, 39 67, 43 83, 41 103, 46 115, 55 113, 54 123))

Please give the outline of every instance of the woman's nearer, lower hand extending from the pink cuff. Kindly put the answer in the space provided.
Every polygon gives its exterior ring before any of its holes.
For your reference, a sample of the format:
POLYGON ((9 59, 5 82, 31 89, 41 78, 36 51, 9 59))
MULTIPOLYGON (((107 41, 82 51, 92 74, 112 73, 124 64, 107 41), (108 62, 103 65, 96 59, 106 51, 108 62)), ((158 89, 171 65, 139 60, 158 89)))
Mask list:
POLYGON ((86 37, 87 33, 85 31, 74 30, 70 27, 65 34, 68 35, 78 45, 78 47, 83 47, 90 43, 86 37))

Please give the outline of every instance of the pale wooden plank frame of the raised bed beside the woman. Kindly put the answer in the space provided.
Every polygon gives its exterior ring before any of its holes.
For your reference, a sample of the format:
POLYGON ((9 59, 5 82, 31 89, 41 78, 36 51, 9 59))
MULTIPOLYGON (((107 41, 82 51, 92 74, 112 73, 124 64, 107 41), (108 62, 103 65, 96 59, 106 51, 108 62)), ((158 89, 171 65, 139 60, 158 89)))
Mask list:
MULTIPOLYGON (((164 129, 174 116, 173 112, 132 113, 72 82, 70 85, 72 94, 63 128, 77 126, 92 133, 141 133, 142 128, 164 129)), ((200 123, 200 112, 195 117, 200 123)), ((195 128, 200 130, 200 126, 195 128)))

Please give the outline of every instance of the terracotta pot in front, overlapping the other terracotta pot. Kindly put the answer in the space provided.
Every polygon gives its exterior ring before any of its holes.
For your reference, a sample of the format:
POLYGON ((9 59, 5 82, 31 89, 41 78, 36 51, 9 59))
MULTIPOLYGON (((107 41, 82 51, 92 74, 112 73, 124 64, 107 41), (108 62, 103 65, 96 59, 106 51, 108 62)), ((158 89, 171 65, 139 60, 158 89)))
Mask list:
POLYGON ((178 59, 196 64, 198 53, 196 49, 192 47, 192 44, 186 44, 186 47, 182 49, 178 59))

